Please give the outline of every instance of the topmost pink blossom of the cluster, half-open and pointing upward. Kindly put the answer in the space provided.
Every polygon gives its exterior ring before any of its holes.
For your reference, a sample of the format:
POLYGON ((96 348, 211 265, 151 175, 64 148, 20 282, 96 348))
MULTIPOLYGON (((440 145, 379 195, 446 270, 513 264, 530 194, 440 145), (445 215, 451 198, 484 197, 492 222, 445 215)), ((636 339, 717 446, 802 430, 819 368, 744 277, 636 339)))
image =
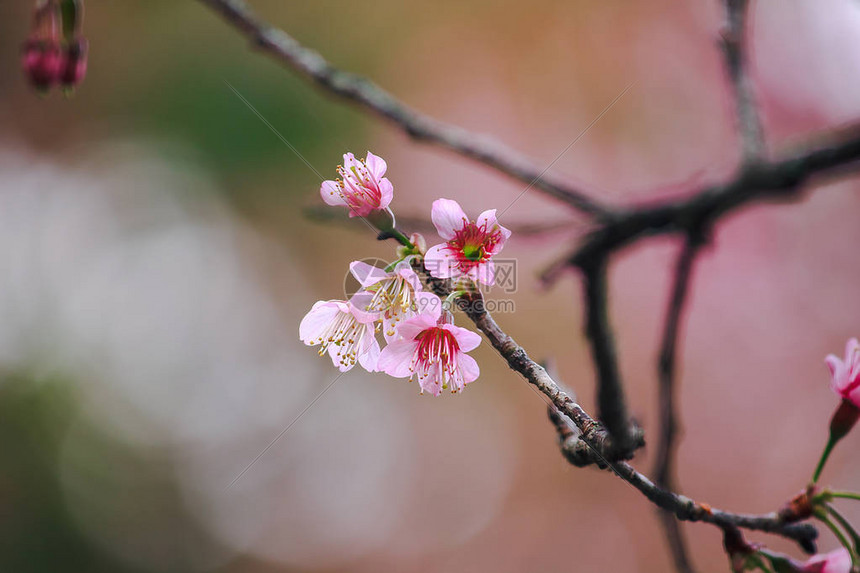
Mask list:
POLYGON ((352 153, 343 156, 335 181, 323 181, 320 195, 329 205, 349 207, 350 217, 366 217, 375 209, 387 209, 394 197, 394 186, 383 177, 385 160, 367 152, 364 161, 352 153))

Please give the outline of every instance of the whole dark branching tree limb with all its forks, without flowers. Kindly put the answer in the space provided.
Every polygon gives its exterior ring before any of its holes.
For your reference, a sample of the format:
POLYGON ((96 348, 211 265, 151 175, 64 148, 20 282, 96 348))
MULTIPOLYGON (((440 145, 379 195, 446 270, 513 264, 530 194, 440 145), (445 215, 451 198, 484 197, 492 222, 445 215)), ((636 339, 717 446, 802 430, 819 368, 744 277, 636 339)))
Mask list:
MULTIPOLYGON (((423 115, 395 99, 369 80, 334 68, 316 52, 259 20, 241 0, 200 0, 248 37, 258 48, 307 78, 324 91, 352 101, 387 120, 419 141, 436 144, 471 158, 542 190, 576 210, 596 218, 597 228, 574 251, 557 262, 547 280, 560 269, 578 267, 584 275, 587 306, 586 333, 598 374, 598 405, 603 423, 593 420, 562 390, 546 370, 505 334, 483 307, 478 292, 458 299, 476 327, 507 360, 508 365, 540 390, 551 402, 550 417, 558 431, 562 451, 576 465, 597 464, 611 469, 659 508, 665 510, 664 525, 673 545, 676 565, 690 570, 675 518, 704 521, 725 531, 745 528, 793 539, 807 552, 815 550, 817 530, 797 523, 805 516, 792 511, 746 515, 712 509, 672 491, 675 445, 674 379, 678 329, 689 288, 690 273, 701 239, 721 217, 743 206, 766 200, 791 200, 800 195, 813 178, 838 169, 856 169, 860 163, 860 128, 854 126, 841 142, 812 147, 780 161, 765 161, 764 138, 751 82, 747 75, 746 20, 748 0, 724 0, 727 30, 723 34, 726 67, 734 92, 738 127, 743 146, 743 166, 733 180, 700 188, 697 193, 650 205, 616 210, 590 199, 580 190, 552 176, 525 156, 490 138, 423 115), (660 354, 661 432, 655 462, 657 483, 624 461, 644 442, 642 432, 629 419, 607 316, 606 271, 610 256, 646 236, 682 233, 688 244, 679 257, 675 286, 667 314, 660 354), (604 424, 605 423, 605 427, 604 424), (674 516, 669 518, 668 516, 674 516), (686 567, 686 568, 685 568, 686 567)), ((451 292, 448 281, 428 277, 425 282, 437 294, 451 292)))

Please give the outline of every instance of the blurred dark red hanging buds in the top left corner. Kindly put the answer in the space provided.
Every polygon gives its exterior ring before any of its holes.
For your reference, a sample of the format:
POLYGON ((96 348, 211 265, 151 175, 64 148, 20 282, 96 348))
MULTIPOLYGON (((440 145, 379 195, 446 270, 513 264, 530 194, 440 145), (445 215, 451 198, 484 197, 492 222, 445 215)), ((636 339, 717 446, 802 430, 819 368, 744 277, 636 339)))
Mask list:
POLYGON ((81 35, 83 0, 37 0, 21 67, 37 90, 74 90, 87 73, 89 43, 81 35))

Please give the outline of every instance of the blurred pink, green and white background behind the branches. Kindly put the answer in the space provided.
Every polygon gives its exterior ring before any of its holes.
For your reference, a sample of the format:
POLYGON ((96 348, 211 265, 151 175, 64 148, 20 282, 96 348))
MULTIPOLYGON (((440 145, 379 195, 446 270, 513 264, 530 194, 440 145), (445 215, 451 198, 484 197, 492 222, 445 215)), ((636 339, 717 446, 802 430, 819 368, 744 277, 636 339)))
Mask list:
MULTIPOLYGON (((554 166, 603 200, 676 195, 737 163, 717 0, 253 5, 334 64, 540 165, 633 83, 554 166)), ((860 118, 860 3, 754 7, 772 150, 860 118)), ((402 217, 426 219, 439 196, 504 209, 523 184, 330 99, 196 2, 88 2, 86 81, 39 96, 19 64, 31 8, 6 0, 0 19, 0 570, 671 567, 653 507, 567 465, 544 402, 488 345, 459 396, 360 369, 332 385, 298 323, 342 295, 350 261, 393 246, 309 219, 319 178, 229 85, 325 177, 347 150, 383 156, 402 217)), ((766 512, 808 480, 836 405, 823 358, 860 335, 857 185, 747 209, 700 258, 678 461, 696 499, 766 512)), ((587 221, 530 190, 502 222, 567 223, 514 234, 516 312, 497 320, 593 411, 578 281, 546 291, 535 278, 587 221)), ((622 370, 652 439, 676 251, 652 240, 612 267, 622 370)), ((858 440, 825 483, 860 487, 858 440)), ((700 570, 727 569, 715 528, 685 530, 700 570)))

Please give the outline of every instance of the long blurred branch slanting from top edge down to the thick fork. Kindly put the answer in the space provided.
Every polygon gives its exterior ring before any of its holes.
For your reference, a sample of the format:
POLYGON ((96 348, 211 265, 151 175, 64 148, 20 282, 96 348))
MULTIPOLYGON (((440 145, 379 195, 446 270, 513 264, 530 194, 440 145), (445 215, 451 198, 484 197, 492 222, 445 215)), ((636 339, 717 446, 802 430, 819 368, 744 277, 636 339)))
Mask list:
POLYGON ((370 80, 338 70, 283 30, 263 22, 242 0, 200 1, 221 14, 256 47, 279 62, 314 80, 326 92, 350 100, 388 120, 410 137, 489 165, 583 213, 604 215, 608 212, 579 189, 545 173, 545 169, 502 143, 419 113, 370 80))

